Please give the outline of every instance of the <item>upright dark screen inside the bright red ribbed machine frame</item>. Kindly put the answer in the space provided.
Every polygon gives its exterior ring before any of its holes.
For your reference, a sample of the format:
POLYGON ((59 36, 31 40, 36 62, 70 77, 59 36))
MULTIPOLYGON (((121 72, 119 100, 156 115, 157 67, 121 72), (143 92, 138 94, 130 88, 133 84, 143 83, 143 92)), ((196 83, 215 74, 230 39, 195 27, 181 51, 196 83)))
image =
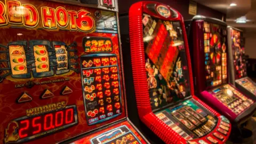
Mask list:
POLYGON ((185 46, 179 21, 143 14, 142 22, 150 104, 157 109, 190 95, 185 46))

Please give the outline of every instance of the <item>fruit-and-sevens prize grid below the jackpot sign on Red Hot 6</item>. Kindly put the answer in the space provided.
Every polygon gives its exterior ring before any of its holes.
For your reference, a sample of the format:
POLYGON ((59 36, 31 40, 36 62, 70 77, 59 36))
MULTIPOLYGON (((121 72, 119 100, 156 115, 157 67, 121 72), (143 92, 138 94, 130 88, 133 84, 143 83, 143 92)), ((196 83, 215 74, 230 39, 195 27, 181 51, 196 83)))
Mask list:
POLYGON ((83 97, 89 125, 122 113, 119 70, 115 54, 81 57, 83 97))

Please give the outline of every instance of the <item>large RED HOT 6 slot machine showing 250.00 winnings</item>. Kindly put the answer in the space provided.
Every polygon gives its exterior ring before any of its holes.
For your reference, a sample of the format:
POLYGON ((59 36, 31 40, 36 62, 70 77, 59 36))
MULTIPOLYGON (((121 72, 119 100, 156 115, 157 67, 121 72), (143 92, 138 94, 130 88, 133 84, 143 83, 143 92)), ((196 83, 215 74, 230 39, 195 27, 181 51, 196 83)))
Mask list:
POLYGON ((0 1, 0 143, 148 143, 129 121, 117 1, 0 1))

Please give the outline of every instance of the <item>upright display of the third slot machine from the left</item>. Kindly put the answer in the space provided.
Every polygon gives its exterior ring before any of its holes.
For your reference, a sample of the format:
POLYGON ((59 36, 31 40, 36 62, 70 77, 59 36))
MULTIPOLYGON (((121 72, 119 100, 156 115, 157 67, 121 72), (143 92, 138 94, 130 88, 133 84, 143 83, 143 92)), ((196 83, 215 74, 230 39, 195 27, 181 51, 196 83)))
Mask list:
POLYGON ((227 29, 204 22, 206 87, 227 83, 227 29))

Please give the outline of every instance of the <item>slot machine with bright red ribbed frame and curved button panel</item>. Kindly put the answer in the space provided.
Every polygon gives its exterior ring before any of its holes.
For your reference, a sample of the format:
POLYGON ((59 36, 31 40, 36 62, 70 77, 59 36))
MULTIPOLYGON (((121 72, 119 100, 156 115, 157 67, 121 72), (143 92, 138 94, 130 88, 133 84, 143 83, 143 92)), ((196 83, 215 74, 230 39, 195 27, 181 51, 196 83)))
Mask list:
POLYGON ((225 143, 231 125, 194 95, 182 15, 138 2, 129 11, 131 61, 139 117, 165 143, 225 143))

